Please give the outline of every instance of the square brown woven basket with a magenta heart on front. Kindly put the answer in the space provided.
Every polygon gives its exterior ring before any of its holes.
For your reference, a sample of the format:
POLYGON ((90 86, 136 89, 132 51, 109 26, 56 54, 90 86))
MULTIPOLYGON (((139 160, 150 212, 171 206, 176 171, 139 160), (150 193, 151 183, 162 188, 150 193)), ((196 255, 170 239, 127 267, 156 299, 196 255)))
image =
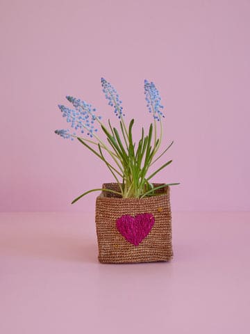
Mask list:
MULTIPOLYGON (((159 186, 160 184, 153 184, 159 186)), ((103 189, 119 191, 117 183, 103 189)), ((169 186, 148 198, 121 198, 102 191, 96 201, 99 262, 133 263, 172 259, 169 186)))

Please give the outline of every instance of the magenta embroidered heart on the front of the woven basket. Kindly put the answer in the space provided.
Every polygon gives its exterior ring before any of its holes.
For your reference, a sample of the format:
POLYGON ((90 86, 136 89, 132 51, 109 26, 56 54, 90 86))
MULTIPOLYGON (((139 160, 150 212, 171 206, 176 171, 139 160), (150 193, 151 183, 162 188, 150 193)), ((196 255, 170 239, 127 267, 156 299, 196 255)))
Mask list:
POLYGON ((135 217, 124 214, 116 221, 117 230, 135 246, 138 246, 147 237, 154 223, 153 214, 137 214, 135 217))

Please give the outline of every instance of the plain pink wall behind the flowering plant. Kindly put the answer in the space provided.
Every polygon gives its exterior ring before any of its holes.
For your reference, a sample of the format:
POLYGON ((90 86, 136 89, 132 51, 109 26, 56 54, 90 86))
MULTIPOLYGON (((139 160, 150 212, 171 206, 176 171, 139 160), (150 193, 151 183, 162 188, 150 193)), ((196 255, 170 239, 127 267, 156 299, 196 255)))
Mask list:
MULTIPOLYGON (((106 77, 126 118, 149 124, 144 78, 165 105, 174 162, 155 181, 174 210, 249 209, 249 1, 1 1, 1 211, 93 211, 70 201, 112 180, 67 124, 65 95, 113 117, 106 77)), ((138 129, 140 127, 138 126, 138 129)))

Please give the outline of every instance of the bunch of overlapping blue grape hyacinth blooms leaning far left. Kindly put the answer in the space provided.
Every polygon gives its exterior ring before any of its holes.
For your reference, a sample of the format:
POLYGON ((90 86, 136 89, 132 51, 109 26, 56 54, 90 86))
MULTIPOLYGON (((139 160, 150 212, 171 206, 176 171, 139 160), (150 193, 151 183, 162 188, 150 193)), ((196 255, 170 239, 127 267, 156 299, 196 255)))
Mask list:
MULTIPOLYGON (((81 130, 82 134, 86 131, 88 136, 92 138, 94 132, 97 132, 97 129, 94 127, 94 121, 97 120, 97 118, 101 119, 101 116, 94 114, 96 109, 92 108, 91 104, 72 96, 67 96, 66 98, 69 102, 72 102, 74 109, 69 109, 59 104, 58 107, 60 111, 62 111, 63 117, 67 118, 67 122, 71 123, 72 128, 81 130)), ((63 138, 69 138, 70 136, 68 130, 67 133, 61 132, 62 130, 56 131, 56 134, 63 136, 63 138)))

